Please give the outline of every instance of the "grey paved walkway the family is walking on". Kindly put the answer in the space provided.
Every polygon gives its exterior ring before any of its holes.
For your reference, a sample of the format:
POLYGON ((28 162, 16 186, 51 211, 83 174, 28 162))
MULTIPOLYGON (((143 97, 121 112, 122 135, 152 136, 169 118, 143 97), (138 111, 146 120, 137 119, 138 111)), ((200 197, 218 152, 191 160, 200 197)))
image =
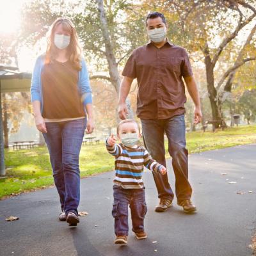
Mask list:
MULTIPOLYGON (((168 211, 154 212, 158 201, 156 188, 152 174, 145 172, 148 239, 138 241, 130 231, 128 246, 113 244, 113 172, 81 180, 79 211, 87 211, 89 215, 81 217, 76 228, 57 220, 59 204, 55 188, 2 200, 0 255, 252 255, 248 244, 256 226, 255 166, 256 145, 189 156, 193 201, 198 207, 198 213, 193 215, 184 214, 176 201, 168 211), (237 192, 246 193, 240 195, 237 192), (4 221, 10 215, 20 219, 4 221)), ((172 171, 169 173, 173 185, 172 171)))

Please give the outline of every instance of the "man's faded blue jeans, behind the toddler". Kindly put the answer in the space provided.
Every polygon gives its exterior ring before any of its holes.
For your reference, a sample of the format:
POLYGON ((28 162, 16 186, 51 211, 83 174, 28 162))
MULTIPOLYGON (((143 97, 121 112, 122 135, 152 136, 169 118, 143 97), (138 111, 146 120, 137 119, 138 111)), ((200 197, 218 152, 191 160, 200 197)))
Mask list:
MULTIPOLYGON (((141 120, 145 146, 158 163, 166 166, 164 150, 164 132, 168 138, 168 151, 172 156, 175 174, 175 192, 177 202, 191 198, 192 188, 188 181, 188 150, 186 149, 186 129, 184 115, 168 119, 141 120)), ((167 173, 153 172, 158 197, 173 200, 173 191, 168 182, 167 173)))

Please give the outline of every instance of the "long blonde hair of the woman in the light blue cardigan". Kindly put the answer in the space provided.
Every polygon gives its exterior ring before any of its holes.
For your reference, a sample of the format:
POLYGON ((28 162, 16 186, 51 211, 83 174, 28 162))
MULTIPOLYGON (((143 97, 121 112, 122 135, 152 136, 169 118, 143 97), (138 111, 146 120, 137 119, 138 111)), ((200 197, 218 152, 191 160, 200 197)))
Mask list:
POLYGON ((68 18, 56 19, 47 33, 47 49, 45 55, 45 64, 50 63, 57 55, 57 47, 54 45, 54 30, 56 26, 61 24, 64 31, 70 33, 70 44, 67 47, 67 58, 70 60, 77 70, 81 70, 81 54, 82 50, 78 42, 76 28, 72 21, 68 18))

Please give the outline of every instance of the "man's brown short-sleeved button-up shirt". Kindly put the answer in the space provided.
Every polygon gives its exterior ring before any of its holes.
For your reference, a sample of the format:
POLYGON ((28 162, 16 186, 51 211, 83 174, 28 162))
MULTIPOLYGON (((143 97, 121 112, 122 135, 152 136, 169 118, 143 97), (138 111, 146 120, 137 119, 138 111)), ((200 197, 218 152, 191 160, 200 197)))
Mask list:
POLYGON ((135 49, 122 76, 137 78, 137 115, 141 119, 166 119, 185 113, 182 77, 193 76, 188 53, 166 42, 161 48, 148 43, 135 49))

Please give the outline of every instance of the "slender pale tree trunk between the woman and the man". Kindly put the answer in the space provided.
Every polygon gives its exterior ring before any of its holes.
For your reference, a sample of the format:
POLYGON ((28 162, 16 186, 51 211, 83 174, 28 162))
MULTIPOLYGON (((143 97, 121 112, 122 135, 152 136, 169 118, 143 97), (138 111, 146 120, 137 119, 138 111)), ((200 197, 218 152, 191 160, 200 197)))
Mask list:
MULTIPOLYGON (((104 5, 102 0, 97 0, 97 2, 98 2, 98 10, 99 10, 99 19, 102 25, 102 28, 101 28, 102 36, 104 38, 104 44, 105 44, 105 55, 108 61, 109 76, 111 78, 111 83, 115 87, 116 93, 119 93, 121 79, 118 72, 118 64, 116 63, 116 58, 113 51, 111 36, 109 35, 106 12, 104 10, 104 5)), ((129 115, 127 116, 127 118, 133 118, 131 102, 129 99, 126 100, 126 104, 127 104, 127 108, 129 109, 129 115)))

